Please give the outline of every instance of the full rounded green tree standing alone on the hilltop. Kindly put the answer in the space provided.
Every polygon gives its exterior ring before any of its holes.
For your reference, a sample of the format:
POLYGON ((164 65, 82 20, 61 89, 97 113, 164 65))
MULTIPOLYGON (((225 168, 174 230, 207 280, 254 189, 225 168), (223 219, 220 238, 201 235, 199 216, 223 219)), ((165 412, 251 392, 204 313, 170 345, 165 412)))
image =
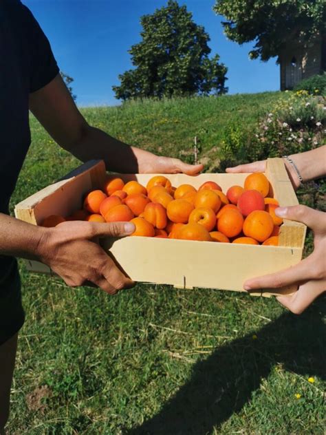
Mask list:
POLYGON ((177 1, 141 18, 142 41, 129 50, 133 70, 119 75, 116 98, 225 94, 227 68, 216 54, 208 58, 210 38, 191 12, 177 1))

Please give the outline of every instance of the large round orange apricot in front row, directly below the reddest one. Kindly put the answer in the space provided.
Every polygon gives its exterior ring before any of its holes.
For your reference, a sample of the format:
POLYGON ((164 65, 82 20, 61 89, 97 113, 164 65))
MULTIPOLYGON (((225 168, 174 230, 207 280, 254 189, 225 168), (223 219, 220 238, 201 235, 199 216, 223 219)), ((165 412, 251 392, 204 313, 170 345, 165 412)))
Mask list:
POLYGON ((272 216, 267 211, 252 211, 243 222, 243 233, 258 242, 265 242, 274 229, 272 216))

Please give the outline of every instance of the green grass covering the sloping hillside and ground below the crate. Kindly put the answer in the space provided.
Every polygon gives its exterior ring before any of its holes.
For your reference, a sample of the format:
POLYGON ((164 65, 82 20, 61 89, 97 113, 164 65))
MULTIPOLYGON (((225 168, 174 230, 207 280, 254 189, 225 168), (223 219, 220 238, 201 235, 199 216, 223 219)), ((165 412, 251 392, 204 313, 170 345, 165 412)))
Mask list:
MULTIPOLYGON (((276 98, 145 101, 83 114, 166 155, 191 151, 199 136, 201 157, 211 161, 221 157, 219 141, 232 123, 250 129, 276 98)), ((31 127, 12 206, 78 165, 34 119, 31 127)), ((109 297, 23 264, 21 275, 27 319, 10 434, 324 433, 325 299, 296 317, 274 299, 241 293, 138 284, 109 297), (41 386, 40 409, 30 409, 41 386)))

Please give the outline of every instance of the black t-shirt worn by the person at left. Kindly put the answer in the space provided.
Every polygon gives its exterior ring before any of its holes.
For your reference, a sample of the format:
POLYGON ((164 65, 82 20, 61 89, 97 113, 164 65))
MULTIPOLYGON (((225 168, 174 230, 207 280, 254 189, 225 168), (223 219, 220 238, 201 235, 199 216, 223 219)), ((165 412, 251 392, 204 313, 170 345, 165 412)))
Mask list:
MULTIPOLYGON (((30 146, 28 98, 58 74, 50 43, 19 0, 0 0, 0 213, 30 146)), ((0 277, 10 265, 0 256, 0 277)))

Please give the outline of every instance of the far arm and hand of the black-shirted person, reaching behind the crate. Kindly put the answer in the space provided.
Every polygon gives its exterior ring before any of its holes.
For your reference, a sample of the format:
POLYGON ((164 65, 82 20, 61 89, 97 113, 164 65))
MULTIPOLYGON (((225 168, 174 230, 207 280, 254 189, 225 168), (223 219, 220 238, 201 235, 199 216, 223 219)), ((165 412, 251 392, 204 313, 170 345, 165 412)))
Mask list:
POLYGON ((30 94, 30 110, 58 145, 83 162, 103 159, 107 169, 121 173, 178 173, 195 175, 203 165, 187 165, 176 158, 155 156, 131 147, 87 124, 58 74, 30 94))

